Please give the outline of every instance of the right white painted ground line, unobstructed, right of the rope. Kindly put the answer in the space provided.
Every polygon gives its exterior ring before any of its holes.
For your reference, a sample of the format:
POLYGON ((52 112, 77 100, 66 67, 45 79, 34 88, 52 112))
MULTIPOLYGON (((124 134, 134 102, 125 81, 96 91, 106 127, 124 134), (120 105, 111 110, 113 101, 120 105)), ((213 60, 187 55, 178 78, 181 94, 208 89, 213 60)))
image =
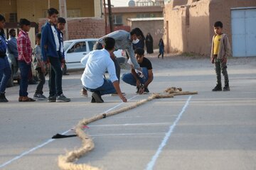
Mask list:
POLYGON ((169 131, 166 132, 166 135, 164 137, 164 140, 162 140, 161 144, 159 145, 159 148, 156 151, 156 154, 151 159, 151 162, 147 164, 146 170, 152 170, 154 168, 154 165, 156 163, 156 159, 159 157, 159 154, 161 154, 162 149, 166 145, 166 142, 168 142, 169 138, 171 137, 171 133, 174 132, 174 128, 176 127, 178 120, 181 119, 182 114, 186 111, 186 108, 188 107, 189 101, 191 100, 192 96, 188 97, 188 100, 186 101, 186 104, 183 106, 181 112, 178 114, 178 117, 174 121, 174 124, 172 124, 169 128, 169 131))

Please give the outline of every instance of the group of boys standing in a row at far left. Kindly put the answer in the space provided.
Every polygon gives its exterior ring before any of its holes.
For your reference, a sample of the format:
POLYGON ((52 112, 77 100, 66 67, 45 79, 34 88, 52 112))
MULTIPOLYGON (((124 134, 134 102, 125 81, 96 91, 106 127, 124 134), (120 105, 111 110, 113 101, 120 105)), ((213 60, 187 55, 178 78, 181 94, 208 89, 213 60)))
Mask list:
MULTIPOLYGON (((48 9, 48 21, 42 28, 42 33, 36 35, 36 47, 32 49, 31 41, 28 38, 28 31, 31 22, 26 18, 21 18, 21 27, 16 40, 18 52, 18 68, 21 72, 19 89, 19 102, 31 102, 35 99, 48 99, 48 102, 68 102, 70 98, 63 95, 62 90, 62 67, 65 64, 63 49, 63 33, 65 18, 58 18, 58 11, 55 8, 48 9), (32 57, 33 56, 33 57, 32 57), (33 63, 38 73, 39 83, 36 87, 33 98, 28 97, 28 76, 31 72, 33 63), (43 95, 43 85, 45 84, 46 67, 49 72, 50 96, 43 95)), ((6 56, 6 36, 4 35, 4 16, 0 15, 0 102, 8 102, 5 96, 6 84, 11 77, 11 67, 6 56)))

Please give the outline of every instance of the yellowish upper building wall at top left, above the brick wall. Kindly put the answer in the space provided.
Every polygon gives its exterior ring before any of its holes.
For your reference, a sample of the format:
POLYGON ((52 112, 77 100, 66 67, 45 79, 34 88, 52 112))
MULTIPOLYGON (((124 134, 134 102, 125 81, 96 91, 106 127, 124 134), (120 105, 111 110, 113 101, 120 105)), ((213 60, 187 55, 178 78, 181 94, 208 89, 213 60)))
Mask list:
MULTIPOLYGON (((50 7, 58 9, 58 0, 50 0, 50 7)), ((100 16, 100 7, 100 0, 67 0, 67 9, 80 9, 81 17, 100 16), (98 1, 97 6, 94 5, 95 1, 98 1)), ((1 0, 0 13, 6 16, 7 22, 10 13, 17 13, 18 21, 20 18, 27 18, 29 21, 38 22, 38 18, 45 17, 47 9, 47 0, 1 0)))

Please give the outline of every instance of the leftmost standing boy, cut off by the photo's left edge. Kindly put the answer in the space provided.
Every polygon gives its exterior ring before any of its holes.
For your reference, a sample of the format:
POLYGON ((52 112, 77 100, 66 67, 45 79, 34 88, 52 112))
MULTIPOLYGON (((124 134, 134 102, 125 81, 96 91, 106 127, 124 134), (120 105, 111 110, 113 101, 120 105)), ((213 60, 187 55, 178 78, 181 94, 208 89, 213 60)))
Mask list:
POLYGON ((5 18, 0 14, 0 102, 8 102, 5 96, 7 82, 11 77, 11 67, 6 55, 5 18))

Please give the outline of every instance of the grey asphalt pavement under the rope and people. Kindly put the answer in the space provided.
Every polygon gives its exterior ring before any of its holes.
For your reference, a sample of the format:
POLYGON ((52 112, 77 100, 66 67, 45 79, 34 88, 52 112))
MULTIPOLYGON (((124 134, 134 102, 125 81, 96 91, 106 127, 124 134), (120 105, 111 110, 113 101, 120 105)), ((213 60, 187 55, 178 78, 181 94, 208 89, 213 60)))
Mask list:
MULTIPOLYGON (((109 170, 256 169, 256 57, 228 61, 231 91, 226 92, 211 91, 215 72, 208 59, 149 60, 154 72, 151 93, 176 86, 198 94, 155 99, 91 123, 85 130, 95 149, 77 163, 109 170)), ((90 103, 90 93, 80 96, 81 74, 63 77, 69 103, 22 103, 18 86, 6 89, 9 103, 0 103, 0 169, 58 169, 58 156, 80 147, 81 141, 52 140, 53 135, 72 135, 82 118, 131 106, 150 95, 137 95, 134 86, 121 81, 127 103, 110 95, 102 96, 105 103, 90 103)), ((29 96, 35 89, 28 86, 29 96)))

